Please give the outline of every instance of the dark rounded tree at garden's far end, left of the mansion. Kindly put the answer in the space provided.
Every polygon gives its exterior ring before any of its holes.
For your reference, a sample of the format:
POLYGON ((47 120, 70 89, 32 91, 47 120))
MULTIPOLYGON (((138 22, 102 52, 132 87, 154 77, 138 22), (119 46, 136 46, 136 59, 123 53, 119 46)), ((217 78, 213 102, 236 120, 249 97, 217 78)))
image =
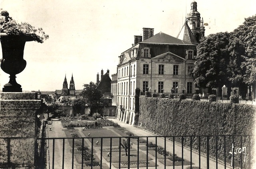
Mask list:
POLYGON ((102 92, 98 90, 97 85, 95 85, 92 82, 90 84, 84 84, 83 86, 84 86, 84 91, 82 94, 86 104, 88 104, 88 106, 90 106, 92 110, 93 109, 98 110, 98 106, 100 105, 100 99, 103 96, 102 92))

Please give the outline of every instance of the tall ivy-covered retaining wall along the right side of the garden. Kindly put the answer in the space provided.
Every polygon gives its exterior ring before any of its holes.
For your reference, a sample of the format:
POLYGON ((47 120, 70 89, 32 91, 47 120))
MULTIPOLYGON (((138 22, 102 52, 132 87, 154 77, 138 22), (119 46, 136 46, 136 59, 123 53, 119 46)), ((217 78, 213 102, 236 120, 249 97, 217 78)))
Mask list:
MULTIPOLYGON (((139 124, 164 136, 254 134, 256 107, 248 104, 202 102, 146 98, 140 96, 139 124)), ((215 157, 215 137, 210 137, 210 154, 215 157)), ((181 138, 177 139, 180 141, 181 138)), ((253 140, 253 138, 252 138, 253 140)), ((198 138, 193 137, 193 148, 198 149, 198 138)), ((240 137, 235 137, 235 150, 240 147, 240 137)), ((184 144, 190 145, 185 137, 184 144)), ((243 146, 248 148, 248 137, 243 146)), ((251 151, 253 146, 251 143, 251 151)), ((224 138, 218 138, 218 158, 224 159, 224 138)), ((201 137, 201 151, 206 152, 206 137, 201 137)), ((232 137, 226 137, 226 157, 232 151, 232 137)), ((246 154, 248 155, 248 153, 246 154)), ((240 158, 236 155, 235 159, 240 158)), ((248 160, 248 158, 246 158, 248 160)))

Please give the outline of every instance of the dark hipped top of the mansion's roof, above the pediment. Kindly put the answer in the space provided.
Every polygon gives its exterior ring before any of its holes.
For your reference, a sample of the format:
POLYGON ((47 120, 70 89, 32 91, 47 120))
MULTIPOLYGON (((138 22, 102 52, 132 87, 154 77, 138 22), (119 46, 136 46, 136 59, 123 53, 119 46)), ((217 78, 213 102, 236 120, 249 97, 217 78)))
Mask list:
POLYGON ((178 39, 166 33, 159 32, 156 35, 140 42, 140 43, 158 43, 158 44, 176 44, 176 45, 192 45, 192 43, 178 39))

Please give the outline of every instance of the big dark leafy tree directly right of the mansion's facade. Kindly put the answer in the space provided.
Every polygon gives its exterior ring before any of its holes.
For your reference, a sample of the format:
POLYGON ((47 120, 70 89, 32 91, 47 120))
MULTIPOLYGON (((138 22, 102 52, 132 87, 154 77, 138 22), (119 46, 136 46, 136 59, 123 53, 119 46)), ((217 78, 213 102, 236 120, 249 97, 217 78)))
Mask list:
POLYGON ((229 86, 227 65, 229 63, 230 33, 220 32, 202 37, 197 46, 195 67, 192 75, 194 83, 201 88, 221 88, 229 86))

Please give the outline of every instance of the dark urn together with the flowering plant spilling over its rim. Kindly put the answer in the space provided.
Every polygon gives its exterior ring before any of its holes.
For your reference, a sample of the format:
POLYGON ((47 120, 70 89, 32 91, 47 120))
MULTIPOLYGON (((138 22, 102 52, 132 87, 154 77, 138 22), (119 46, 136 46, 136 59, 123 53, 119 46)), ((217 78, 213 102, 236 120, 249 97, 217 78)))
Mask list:
POLYGON ((7 11, 1 10, 0 40, 3 58, 0 59, 1 69, 10 75, 10 81, 4 85, 3 92, 22 92, 21 85, 16 82, 16 74, 21 73, 26 67, 23 59, 26 41, 43 43, 48 39, 42 28, 34 28, 24 22, 19 24, 13 20, 7 11))

